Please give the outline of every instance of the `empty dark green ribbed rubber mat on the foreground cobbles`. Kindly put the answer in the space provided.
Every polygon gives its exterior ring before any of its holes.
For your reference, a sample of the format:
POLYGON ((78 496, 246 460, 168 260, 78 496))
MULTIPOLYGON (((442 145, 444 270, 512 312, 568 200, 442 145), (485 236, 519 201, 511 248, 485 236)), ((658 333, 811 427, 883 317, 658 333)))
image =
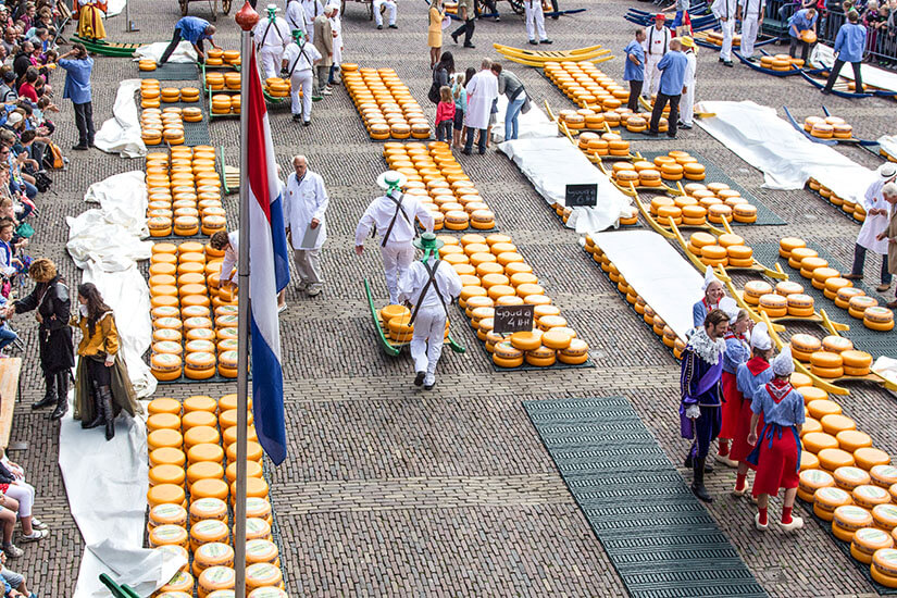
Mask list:
POLYGON ((626 399, 523 408, 630 596, 767 596, 626 399))

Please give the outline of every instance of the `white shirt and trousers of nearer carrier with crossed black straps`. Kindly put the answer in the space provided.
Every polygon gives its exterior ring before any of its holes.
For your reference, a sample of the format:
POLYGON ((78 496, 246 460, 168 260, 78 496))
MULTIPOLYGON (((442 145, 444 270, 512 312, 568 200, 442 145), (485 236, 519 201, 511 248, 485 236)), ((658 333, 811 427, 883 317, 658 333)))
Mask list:
MULTIPOLYGON (((435 262, 431 259, 429 263, 432 265, 435 262)), ((447 308, 451 300, 461 294, 461 278, 451 265, 441 261, 436 266, 434 278, 447 308)), ((427 288, 426 295, 421 297, 427 281, 429 273, 423 262, 412 263, 399 282, 399 300, 408 300, 414 306, 421 304, 413 323, 410 349, 414 359, 414 371, 426 372, 424 384, 431 386, 436 382, 436 364, 443 353, 447 316, 446 308, 439 301, 433 285, 427 288)), ((414 308, 411 312, 414 313, 414 308)))

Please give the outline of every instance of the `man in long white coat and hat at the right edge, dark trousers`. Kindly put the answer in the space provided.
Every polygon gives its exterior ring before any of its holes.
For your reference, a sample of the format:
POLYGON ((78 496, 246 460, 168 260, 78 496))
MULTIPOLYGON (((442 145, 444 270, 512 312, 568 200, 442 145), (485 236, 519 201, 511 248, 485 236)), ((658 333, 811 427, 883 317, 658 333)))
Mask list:
POLYGON ((887 269, 887 238, 879 240, 879 235, 883 233, 890 221, 890 204, 885 201, 882 189, 888 183, 897 180, 897 164, 885 162, 879 166, 879 176, 865 190, 863 208, 865 209, 865 220, 857 236, 857 245, 854 248, 854 267, 850 274, 844 277, 848 281, 862 281, 863 264, 865 263, 867 250, 882 256, 882 284, 875 289, 884 292, 890 288, 892 275, 887 269))

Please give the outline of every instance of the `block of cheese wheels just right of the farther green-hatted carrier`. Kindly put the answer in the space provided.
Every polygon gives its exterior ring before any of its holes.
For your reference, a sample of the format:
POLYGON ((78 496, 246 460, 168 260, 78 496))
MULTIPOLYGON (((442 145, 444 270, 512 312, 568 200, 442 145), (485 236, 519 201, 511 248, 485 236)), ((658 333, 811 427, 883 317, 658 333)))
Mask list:
POLYGON ((408 177, 404 192, 415 196, 433 215, 434 228, 495 228, 495 214, 444 141, 428 145, 388 141, 383 155, 394 171, 408 177))

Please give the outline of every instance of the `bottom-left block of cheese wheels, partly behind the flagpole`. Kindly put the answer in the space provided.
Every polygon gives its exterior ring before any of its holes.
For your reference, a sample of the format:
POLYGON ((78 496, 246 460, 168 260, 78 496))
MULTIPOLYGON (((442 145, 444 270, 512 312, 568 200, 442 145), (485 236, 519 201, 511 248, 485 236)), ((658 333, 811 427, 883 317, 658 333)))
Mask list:
MULTIPOLYGON (((247 595, 283 598, 287 595, 279 553, 271 537, 272 509, 251 407, 250 402, 247 595)), ((183 404, 175 399, 159 398, 149 404, 150 547, 192 557, 192 563, 178 571, 154 596, 178 596, 177 593, 192 596, 194 591, 203 598, 233 596, 234 522, 228 503, 233 507, 237 464, 235 408, 236 395, 226 395, 220 400, 194 396, 183 404), (189 500, 185 490, 189 490, 189 500)))

